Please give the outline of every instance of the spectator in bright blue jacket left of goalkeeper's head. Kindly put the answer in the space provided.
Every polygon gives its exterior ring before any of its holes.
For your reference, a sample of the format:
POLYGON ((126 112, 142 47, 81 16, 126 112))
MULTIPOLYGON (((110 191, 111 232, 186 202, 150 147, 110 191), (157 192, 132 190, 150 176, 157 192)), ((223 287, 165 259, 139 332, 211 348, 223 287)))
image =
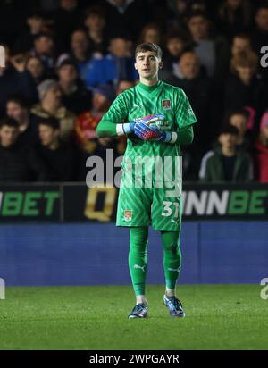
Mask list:
POLYGON ((136 80, 134 58, 130 56, 130 44, 121 36, 110 39, 110 53, 99 60, 93 60, 87 75, 87 88, 102 84, 117 85, 121 79, 136 80))

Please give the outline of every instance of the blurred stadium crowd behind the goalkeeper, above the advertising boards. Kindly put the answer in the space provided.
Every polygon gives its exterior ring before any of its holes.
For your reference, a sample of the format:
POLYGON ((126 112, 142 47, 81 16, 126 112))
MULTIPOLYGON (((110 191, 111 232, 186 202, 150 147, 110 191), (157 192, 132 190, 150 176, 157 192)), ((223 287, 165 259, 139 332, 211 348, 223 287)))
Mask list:
POLYGON ((184 180, 268 182, 268 1, 2 1, 0 182, 85 180, 86 159, 124 153, 97 138, 115 96, 138 81, 134 50, 163 48, 160 79, 197 115, 184 180))

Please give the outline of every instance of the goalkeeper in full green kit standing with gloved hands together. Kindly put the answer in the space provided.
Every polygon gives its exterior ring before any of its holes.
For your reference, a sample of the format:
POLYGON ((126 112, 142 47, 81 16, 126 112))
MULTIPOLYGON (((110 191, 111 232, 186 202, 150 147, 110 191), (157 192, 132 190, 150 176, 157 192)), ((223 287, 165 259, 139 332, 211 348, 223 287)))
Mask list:
POLYGON ((159 46, 150 43, 138 45, 135 59, 138 85, 116 97, 96 129, 100 138, 128 137, 128 146, 121 163, 116 225, 130 227, 129 266, 136 305, 129 318, 145 318, 148 314, 146 276, 149 224, 161 232, 163 243, 163 304, 173 317, 184 317, 182 305, 176 296, 181 266, 181 176, 178 175, 177 159, 180 156, 180 144, 192 143, 193 124, 197 120, 185 93, 158 80, 158 71, 163 66, 159 46), (146 170, 138 170, 145 157, 154 160, 147 160, 146 170), (156 170, 161 167, 163 170, 156 170), (152 185, 148 185, 149 178, 152 178, 152 185))

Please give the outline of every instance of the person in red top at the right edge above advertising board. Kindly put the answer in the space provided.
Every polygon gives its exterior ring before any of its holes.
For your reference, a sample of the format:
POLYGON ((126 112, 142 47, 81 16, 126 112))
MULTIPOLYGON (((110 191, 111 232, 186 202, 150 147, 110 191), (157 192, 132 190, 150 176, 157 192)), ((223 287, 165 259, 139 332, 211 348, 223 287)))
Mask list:
POLYGON ((264 113, 255 143, 255 180, 268 183, 268 112, 264 113))

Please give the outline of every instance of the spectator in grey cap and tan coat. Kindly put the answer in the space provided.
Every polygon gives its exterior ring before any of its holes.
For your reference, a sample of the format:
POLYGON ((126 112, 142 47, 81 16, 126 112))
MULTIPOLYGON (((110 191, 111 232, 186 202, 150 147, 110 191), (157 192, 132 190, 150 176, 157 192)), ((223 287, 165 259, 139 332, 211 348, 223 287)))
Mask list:
POLYGON ((63 141, 70 141, 73 133, 75 114, 63 106, 62 92, 54 79, 46 79, 38 86, 40 103, 33 106, 31 113, 36 118, 54 117, 60 121, 60 137, 63 141))

